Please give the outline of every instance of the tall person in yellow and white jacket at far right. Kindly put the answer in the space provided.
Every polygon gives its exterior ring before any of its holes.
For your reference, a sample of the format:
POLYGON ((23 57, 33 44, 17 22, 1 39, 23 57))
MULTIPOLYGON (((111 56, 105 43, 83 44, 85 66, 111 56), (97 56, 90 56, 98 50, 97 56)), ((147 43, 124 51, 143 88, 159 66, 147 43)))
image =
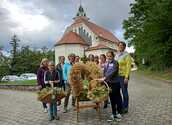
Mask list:
POLYGON ((131 56, 125 51, 126 44, 119 42, 118 52, 115 56, 115 60, 119 64, 119 81, 123 95, 123 113, 128 112, 129 95, 128 95, 128 80, 131 71, 131 56))

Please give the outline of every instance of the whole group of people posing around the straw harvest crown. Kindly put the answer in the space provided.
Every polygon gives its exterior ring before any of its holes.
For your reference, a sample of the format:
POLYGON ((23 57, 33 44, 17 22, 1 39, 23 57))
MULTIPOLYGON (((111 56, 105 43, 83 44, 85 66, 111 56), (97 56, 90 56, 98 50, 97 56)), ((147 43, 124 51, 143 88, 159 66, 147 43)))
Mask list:
MULTIPOLYGON (((109 121, 120 120, 121 114, 128 112, 129 96, 128 96, 128 81, 131 70, 131 56, 125 51, 126 44, 120 42, 118 44, 118 52, 114 54, 113 51, 108 51, 100 56, 90 54, 88 61, 95 62, 103 71, 103 78, 100 80, 108 83, 111 88, 109 94, 110 104, 112 108, 112 116, 109 121)), ((45 87, 56 86, 61 87, 66 91, 64 99, 63 113, 68 112, 69 97, 71 95, 71 87, 69 84, 69 73, 75 63, 80 62, 80 57, 75 54, 68 55, 68 61, 65 61, 64 56, 59 57, 59 63, 55 66, 52 61, 43 59, 40 68, 37 72, 37 80, 39 89, 45 87)), ((61 104, 61 102, 58 102, 61 104)), ((59 120, 57 115, 56 101, 49 104, 43 103, 44 112, 48 111, 49 120, 59 120), (48 109, 48 110, 47 110, 48 109)), ((104 108, 107 108, 109 100, 104 102, 104 108)), ((72 106, 75 107, 75 97, 72 96, 72 106)))

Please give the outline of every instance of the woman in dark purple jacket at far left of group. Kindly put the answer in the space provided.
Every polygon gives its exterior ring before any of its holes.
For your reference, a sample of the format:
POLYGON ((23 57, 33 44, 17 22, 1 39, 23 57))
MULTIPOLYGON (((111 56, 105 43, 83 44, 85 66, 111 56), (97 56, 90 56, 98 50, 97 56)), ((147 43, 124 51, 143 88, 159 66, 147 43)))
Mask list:
MULTIPOLYGON (((44 74, 45 72, 48 70, 48 59, 44 58, 41 61, 40 67, 37 71, 37 83, 38 83, 38 88, 40 90, 42 90, 43 88, 45 88, 45 83, 44 83, 44 74)), ((44 108, 44 112, 47 112, 47 105, 46 103, 42 103, 43 108, 44 108)))

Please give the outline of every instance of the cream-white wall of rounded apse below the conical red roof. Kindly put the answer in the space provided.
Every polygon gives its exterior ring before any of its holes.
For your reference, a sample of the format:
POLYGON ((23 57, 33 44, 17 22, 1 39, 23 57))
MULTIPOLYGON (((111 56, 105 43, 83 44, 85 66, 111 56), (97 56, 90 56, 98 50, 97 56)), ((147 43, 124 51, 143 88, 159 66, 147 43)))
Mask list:
POLYGON ((84 47, 79 44, 64 44, 55 47, 55 63, 58 63, 59 56, 65 56, 66 61, 68 61, 68 55, 74 53, 78 56, 84 55, 84 47))

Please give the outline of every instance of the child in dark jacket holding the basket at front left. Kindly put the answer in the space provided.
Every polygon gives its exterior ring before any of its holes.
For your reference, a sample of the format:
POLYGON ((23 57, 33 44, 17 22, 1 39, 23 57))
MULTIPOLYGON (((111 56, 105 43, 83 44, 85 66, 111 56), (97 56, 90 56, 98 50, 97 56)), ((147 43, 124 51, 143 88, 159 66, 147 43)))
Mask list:
MULTIPOLYGON (((60 77, 59 73, 55 70, 55 65, 53 62, 48 63, 48 71, 45 72, 45 85, 46 87, 59 87, 60 86, 60 77)), ((57 116, 57 100, 54 99, 52 103, 49 104, 49 121, 54 119, 59 120, 59 116, 57 116)))

